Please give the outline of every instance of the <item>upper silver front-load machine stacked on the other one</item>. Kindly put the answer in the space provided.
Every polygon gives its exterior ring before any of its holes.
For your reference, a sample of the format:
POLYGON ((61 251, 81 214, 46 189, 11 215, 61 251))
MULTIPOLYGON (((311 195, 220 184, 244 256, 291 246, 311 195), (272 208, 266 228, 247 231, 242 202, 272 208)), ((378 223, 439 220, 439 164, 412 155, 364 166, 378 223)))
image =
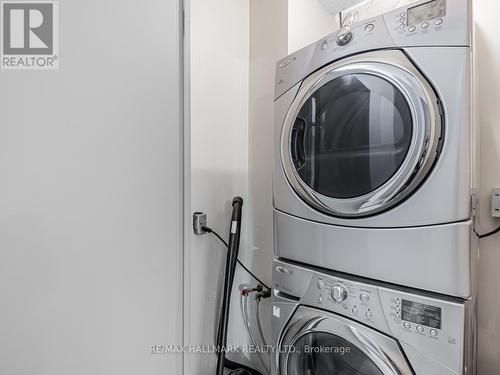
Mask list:
POLYGON ((278 62, 276 256, 472 295, 471 27, 468 0, 417 1, 278 62))

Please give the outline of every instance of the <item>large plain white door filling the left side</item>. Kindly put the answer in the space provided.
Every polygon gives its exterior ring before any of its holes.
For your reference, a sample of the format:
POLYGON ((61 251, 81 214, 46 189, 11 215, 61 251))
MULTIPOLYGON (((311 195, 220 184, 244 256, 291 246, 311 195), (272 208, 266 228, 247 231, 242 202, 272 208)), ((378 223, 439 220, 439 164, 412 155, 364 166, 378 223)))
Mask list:
POLYGON ((0 374, 182 373, 150 354, 182 339, 179 7, 59 1, 59 69, 0 71, 0 374))

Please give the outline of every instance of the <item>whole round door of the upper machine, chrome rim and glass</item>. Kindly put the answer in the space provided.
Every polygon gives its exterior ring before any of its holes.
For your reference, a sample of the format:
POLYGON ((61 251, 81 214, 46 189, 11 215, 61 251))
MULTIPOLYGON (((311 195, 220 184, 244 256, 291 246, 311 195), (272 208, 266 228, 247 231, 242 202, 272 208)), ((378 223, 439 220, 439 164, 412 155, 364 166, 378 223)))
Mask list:
POLYGON ((363 54, 303 83, 285 119, 282 164, 316 209, 370 216, 418 188, 441 137, 438 99, 403 53, 363 54))

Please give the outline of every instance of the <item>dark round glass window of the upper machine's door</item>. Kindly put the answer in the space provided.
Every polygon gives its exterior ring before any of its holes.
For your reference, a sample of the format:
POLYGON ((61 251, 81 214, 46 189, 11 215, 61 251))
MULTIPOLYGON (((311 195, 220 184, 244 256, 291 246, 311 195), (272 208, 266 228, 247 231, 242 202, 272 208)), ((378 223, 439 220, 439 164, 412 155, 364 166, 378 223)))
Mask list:
POLYGON ((318 88, 292 128, 292 161, 314 191, 353 198, 386 183, 410 148, 412 115, 392 83, 350 74, 318 88))

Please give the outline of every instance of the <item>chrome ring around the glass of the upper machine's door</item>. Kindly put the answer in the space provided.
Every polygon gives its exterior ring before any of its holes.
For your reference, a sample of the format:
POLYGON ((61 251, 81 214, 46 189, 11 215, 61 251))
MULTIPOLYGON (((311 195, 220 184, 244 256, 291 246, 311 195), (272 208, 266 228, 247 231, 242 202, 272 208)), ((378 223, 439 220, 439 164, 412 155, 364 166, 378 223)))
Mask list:
POLYGON ((381 213, 414 192, 438 157, 443 124, 434 90, 401 51, 370 52, 335 62, 304 80, 284 121, 281 162, 294 191, 309 205, 333 216, 356 218, 381 213), (399 169, 382 186, 362 196, 333 198, 308 186, 292 162, 291 138, 295 119, 304 103, 326 83, 349 74, 368 74, 394 85, 410 107, 413 134, 399 169))

